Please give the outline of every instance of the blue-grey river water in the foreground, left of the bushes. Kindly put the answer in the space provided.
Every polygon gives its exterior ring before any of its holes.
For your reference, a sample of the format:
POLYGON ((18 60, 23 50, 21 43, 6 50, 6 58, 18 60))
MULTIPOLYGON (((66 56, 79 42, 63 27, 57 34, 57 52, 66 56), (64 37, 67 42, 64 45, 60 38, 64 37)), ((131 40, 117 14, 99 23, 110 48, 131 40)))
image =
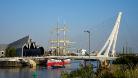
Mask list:
POLYGON ((79 67, 81 61, 73 61, 65 68, 0 68, 0 78, 60 78, 62 71, 72 71, 79 67))

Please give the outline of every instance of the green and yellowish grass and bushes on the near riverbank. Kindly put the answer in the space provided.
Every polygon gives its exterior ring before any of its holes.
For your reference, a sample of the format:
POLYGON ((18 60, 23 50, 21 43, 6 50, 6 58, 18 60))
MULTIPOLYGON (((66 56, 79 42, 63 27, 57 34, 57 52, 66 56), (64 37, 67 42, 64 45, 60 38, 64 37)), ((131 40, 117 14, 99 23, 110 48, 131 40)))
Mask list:
POLYGON ((116 59, 109 69, 93 71, 92 65, 68 72, 62 72, 62 78, 138 78, 138 56, 122 56, 116 59))

